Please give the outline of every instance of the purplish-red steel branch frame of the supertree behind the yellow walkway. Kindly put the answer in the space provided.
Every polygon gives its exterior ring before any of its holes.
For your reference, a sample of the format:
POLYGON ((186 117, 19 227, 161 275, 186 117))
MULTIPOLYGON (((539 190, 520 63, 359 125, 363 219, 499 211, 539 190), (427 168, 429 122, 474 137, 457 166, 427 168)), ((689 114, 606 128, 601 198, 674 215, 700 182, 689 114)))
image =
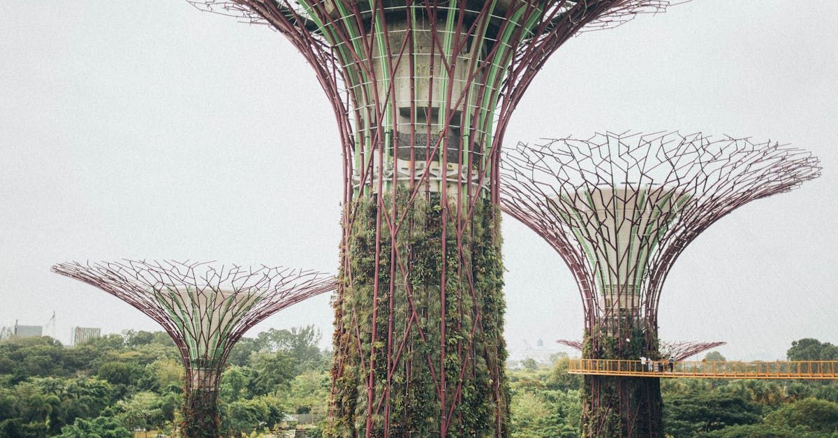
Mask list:
MULTIPOLYGON (((657 326, 658 303, 666 276, 689 243, 714 222, 750 201, 789 191, 820 176, 812 154, 779 143, 754 143, 749 138, 713 139, 701 133, 604 133, 588 139, 565 138, 540 146, 520 144, 504 154, 501 174, 503 210, 530 227, 556 249, 571 269, 582 297, 586 329, 593 331, 603 310, 597 300, 596 268, 587 261, 583 243, 616 248, 617 242, 574 233, 562 217, 571 202, 603 185, 644 185, 688 198, 666 221, 665 233, 647 245, 644 269, 644 320, 657 326)), ((619 199, 628 208, 634 198, 619 199)), ((625 220, 629 220, 626 218, 625 220)), ((613 237, 610 237, 613 239, 613 237)))

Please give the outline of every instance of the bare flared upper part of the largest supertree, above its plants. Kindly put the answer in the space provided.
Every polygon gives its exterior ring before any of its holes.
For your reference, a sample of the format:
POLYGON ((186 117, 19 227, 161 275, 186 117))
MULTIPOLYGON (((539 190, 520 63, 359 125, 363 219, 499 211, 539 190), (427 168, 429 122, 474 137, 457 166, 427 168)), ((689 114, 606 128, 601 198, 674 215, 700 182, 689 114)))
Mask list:
POLYGON ((398 182, 449 196, 485 190, 497 201, 496 152, 550 55, 574 34, 660 13, 670 2, 189 3, 269 25, 300 50, 337 118, 349 202, 398 182))

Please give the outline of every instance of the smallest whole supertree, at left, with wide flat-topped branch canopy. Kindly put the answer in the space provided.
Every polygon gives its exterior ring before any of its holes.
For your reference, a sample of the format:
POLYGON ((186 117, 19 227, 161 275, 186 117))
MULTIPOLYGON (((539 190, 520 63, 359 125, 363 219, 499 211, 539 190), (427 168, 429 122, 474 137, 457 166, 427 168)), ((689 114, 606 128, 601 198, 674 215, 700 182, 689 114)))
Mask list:
POLYGON ((172 336, 186 368, 189 438, 219 436, 218 384, 235 342, 266 317, 336 285, 315 271, 173 261, 73 262, 52 270, 127 302, 172 336))

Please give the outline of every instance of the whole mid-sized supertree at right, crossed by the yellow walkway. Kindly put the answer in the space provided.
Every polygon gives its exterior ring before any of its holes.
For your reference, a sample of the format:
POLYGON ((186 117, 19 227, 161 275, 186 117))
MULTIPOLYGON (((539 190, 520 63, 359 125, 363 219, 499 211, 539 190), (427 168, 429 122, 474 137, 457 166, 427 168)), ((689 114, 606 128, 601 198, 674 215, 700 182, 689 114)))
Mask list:
MULTIPOLYGON (((597 134, 504 153, 504 211, 571 269, 582 357, 661 358, 658 304, 672 264, 738 206, 820 175, 799 149, 701 133, 597 134)), ((583 435, 661 436, 657 378, 586 376, 583 435)))

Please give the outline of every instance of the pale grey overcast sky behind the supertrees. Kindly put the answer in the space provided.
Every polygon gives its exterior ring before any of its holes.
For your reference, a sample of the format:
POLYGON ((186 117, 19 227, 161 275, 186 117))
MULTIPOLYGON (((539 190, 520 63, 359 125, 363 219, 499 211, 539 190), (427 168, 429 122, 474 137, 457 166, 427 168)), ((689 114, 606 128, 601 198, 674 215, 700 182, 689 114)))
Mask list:
MULTIPOLYGON (((338 263, 338 133, 291 44, 184 1, 0 2, 0 326, 157 330, 52 263, 190 258, 338 263)), ((824 175, 734 211, 691 244, 660 303, 664 339, 729 358, 838 342, 838 3, 696 0, 582 34, 547 63, 505 138, 703 131, 810 149, 824 175)), ((505 218, 506 336, 582 335, 561 258, 505 218)), ((331 334, 328 296, 272 316, 331 334)), ((558 348, 558 347, 556 347, 558 348)))

